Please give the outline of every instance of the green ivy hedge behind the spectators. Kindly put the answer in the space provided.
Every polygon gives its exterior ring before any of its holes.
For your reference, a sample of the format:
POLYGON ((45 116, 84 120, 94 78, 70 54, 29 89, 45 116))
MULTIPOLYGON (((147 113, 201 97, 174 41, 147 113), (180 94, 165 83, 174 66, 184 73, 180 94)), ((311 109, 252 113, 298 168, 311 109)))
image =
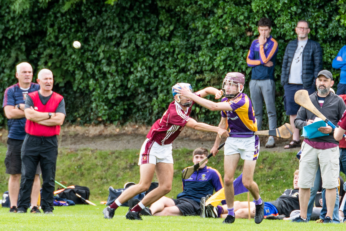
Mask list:
MULTIPOLYGON (((189 82, 195 90, 220 88, 230 71, 245 73, 244 92, 249 93, 246 55, 258 36, 257 21, 268 17, 279 43, 275 80, 280 125, 288 122, 281 63, 287 43, 296 37, 296 22, 310 22, 310 38, 322 46, 324 68, 336 75, 340 72, 331 68, 331 61, 346 37, 345 27, 336 20, 337 1, 329 0, 19 2, 26 2, 19 11, 14 5, 0 6, 1 98, 17 82, 15 65, 27 61, 33 65, 34 79, 42 68, 53 71, 54 90, 65 98, 66 121, 80 124, 151 124, 172 100, 176 82, 189 82), (75 40, 82 44, 79 50, 72 46, 75 40)), ((198 121, 218 124, 218 112, 194 107, 198 121)), ((5 122, 0 115, 0 126, 5 122)))

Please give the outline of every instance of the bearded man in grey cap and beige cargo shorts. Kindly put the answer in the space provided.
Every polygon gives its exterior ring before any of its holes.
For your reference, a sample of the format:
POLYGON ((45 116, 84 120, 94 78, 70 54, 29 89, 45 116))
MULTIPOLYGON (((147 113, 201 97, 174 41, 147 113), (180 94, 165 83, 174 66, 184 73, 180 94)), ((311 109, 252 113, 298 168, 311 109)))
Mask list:
MULTIPOLYGON (((312 104, 333 124, 337 124, 346 109, 344 100, 330 91, 334 84, 330 71, 322 70, 316 79, 317 91, 311 94, 312 104)), ((294 125, 298 129, 312 124, 316 115, 300 107, 294 125)), ((339 176, 339 142, 334 139, 334 130, 329 126, 319 127, 318 131, 325 136, 306 138, 302 143, 302 153, 299 161, 299 204, 300 216, 293 222, 308 222, 307 209, 310 198, 310 188, 315 181, 318 166, 321 167, 322 187, 326 189, 327 215, 324 223, 330 223, 333 217, 336 200, 336 187, 339 176)))

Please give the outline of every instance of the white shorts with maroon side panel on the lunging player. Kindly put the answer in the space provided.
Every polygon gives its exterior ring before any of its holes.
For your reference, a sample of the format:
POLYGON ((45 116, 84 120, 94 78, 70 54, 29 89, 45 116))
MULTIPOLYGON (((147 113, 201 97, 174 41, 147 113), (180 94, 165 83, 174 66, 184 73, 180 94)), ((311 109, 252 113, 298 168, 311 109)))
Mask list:
POLYGON ((173 163, 172 144, 160 145, 153 140, 146 139, 139 153, 138 165, 173 163))

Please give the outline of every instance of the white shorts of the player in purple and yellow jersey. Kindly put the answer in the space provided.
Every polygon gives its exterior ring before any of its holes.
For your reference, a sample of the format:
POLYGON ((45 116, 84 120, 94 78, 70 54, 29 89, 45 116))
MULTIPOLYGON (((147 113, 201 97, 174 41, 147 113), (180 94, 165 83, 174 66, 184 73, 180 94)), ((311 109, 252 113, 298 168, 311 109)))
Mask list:
POLYGON ((225 143, 225 156, 240 154, 243 160, 257 160, 260 150, 258 135, 251 137, 228 137, 225 143))

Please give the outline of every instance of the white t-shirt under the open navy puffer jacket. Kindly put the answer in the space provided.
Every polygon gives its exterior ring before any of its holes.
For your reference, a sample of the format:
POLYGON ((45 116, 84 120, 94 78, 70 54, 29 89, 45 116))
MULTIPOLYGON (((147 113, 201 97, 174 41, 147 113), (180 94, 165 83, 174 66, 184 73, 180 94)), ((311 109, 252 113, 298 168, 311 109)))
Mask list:
POLYGON ((308 40, 298 41, 297 50, 295 50, 290 76, 288 77, 288 83, 303 84, 302 74, 303 74, 303 50, 308 40))

